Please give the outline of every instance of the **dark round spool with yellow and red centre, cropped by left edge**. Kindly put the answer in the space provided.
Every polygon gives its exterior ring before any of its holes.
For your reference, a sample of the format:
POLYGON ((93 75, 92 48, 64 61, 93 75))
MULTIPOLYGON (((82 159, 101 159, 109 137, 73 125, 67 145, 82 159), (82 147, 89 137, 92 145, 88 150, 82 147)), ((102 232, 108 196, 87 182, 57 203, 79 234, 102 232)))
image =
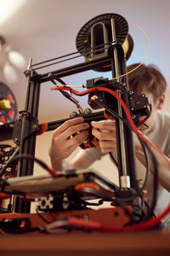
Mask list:
POLYGON ((0 125, 11 123, 16 118, 17 104, 13 92, 0 82, 0 125))

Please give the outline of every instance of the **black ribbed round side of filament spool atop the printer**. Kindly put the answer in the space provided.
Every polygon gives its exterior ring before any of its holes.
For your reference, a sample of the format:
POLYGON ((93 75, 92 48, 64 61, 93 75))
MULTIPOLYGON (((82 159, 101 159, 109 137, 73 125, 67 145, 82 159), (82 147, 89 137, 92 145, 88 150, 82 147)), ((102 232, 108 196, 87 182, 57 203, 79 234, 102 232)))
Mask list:
POLYGON ((77 34, 76 46, 78 52, 88 58, 91 54, 91 27, 98 22, 103 22, 108 32, 108 42, 112 41, 111 34, 111 19, 115 21, 116 30, 116 41, 118 44, 123 44, 127 38, 128 25, 127 20, 125 20, 121 15, 116 14, 105 14, 94 17, 94 19, 89 20, 77 34))

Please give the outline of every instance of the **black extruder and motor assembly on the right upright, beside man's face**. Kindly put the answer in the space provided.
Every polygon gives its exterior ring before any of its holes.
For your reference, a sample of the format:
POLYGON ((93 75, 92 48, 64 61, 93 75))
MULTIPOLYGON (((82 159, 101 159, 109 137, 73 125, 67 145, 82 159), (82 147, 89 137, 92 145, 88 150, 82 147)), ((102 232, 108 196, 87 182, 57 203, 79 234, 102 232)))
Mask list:
MULTIPOLYGON (((106 87, 115 91, 118 90, 122 94, 122 98, 126 94, 129 102, 129 108, 130 108, 129 112, 131 113, 131 116, 135 125, 140 124, 140 118, 142 116, 149 117, 150 115, 149 100, 144 94, 139 95, 134 90, 127 91, 124 88, 123 84, 114 82, 113 80, 104 79, 103 77, 88 79, 86 83, 87 83, 88 89, 106 87)), ((93 109, 99 109, 99 108, 102 108, 102 106, 105 106, 107 108, 114 109, 115 112, 117 111, 116 98, 108 95, 108 93, 106 93, 105 91, 94 90, 93 92, 89 93, 88 104, 93 109)), ((111 115, 111 113, 109 113, 106 109, 105 118, 113 119, 114 116, 111 115)))

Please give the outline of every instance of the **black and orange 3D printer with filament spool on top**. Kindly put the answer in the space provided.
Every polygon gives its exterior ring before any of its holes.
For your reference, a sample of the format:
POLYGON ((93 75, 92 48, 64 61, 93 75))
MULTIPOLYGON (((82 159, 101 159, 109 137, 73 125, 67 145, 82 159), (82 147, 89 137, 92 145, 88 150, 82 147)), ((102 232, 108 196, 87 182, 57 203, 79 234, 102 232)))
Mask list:
MULTIPOLYGON (((139 223, 144 218, 148 218, 148 215, 144 214, 142 200, 147 175, 143 186, 139 187, 133 147, 133 125, 130 124, 129 119, 131 123, 138 126, 141 124, 142 116, 150 115, 150 107, 144 95, 138 95, 135 91, 130 91, 128 87, 126 61, 133 49, 133 39, 128 34, 127 20, 116 14, 99 15, 82 27, 77 34, 76 42, 78 52, 85 58, 83 63, 44 74, 37 73, 37 69, 46 67, 44 64, 46 65, 48 61, 37 64, 32 64, 30 61, 29 63, 25 72, 27 78, 26 107, 14 122, 14 142, 20 146, 15 157, 15 160, 19 161, 19 177, 3 180, 2 191, 16 195, 14 212, 30 212, 30 203, 23 200, 20 195, 26 198, 32 193, 39 193, 40 197, 48 197, 48 207, 44 209, 49 212, 88 209, 87 200, 99 198, 99 203, 111 201, 116 207, 124 207, 123 214, 128 216, 128 222, 139 223), (64 171, 59 172, 58 175, 51 171, 53 177, 32 177, 33 164, 36 160, 34 154, 37 133, 43 130, 54 130, 66 120, 50 122, 45 125, 45 128, 44 125, 38 124, 41 84, 47 81, 56 84, 55 81, 59 81, 62 86, 56 86, 54 90, 60 90, 64 96, 68 97, 67 91, 74 94, 77 94, 77 91, 67 86, 61 78, 89 69, 99 72, 111 70, 112 72, 111 80, 88 79, 87 90, 82 92, 82 95, 88 94, 88 104, 91 108, 104 108, 105 110, 94 113, 80 112, 77 116, 83 116, 89 123, 91 120, 116 120, 119 187, 92 170, 64 171), (88 183, 88 185, 81 187, 82 183, 88 183), (51 201, 55 207, 51 207, 51 201)), ((62 57, 67 58, 68 55, 62 57)), ((56 60, 60 61, 60 58, 56 60)), ((71 116, 73 117, 75 116, 71 116)), ((141 139, 140 142, 144 148, 144 142, 141 139)), ((83 143, 82 148, 96 147, 97 144, 95 138, 90 135, 88 143, 83 143)), ((44 168, 49 169, 42 161, 37 161, 44 168)), ((3 172, 1 177, 3 177, 3 172)), ((42 205, 39 209, 43 210, 42 205)))

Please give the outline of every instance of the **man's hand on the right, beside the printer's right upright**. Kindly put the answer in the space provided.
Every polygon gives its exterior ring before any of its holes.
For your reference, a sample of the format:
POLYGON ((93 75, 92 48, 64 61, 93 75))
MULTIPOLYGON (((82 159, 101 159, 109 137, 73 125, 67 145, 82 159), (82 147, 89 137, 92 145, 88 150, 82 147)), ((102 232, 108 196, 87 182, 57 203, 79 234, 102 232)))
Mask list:
POLYGON ((115 121, 104 120, 92 121, 92 134, 99 139, 102 153, 109 153, 116 150, 116 124, 115 121))

